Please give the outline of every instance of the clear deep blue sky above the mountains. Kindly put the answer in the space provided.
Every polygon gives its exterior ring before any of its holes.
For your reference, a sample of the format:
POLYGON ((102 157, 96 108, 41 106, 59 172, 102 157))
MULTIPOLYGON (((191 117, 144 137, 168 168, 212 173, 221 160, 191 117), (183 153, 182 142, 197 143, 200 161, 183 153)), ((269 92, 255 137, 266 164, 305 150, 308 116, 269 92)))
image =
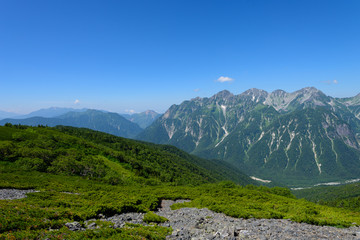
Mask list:
POLYGON ((2 0, 0 110, 164 112, 253 87, 354 96, 359 12, 357 0, 2 0))

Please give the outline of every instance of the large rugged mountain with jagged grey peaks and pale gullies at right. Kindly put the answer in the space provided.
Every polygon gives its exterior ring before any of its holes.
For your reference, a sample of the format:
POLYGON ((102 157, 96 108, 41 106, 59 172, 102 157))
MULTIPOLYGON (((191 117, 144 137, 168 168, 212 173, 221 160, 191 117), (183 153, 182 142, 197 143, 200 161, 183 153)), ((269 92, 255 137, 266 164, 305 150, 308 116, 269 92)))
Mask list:
POLYGON ((359 118, 360 94, 338 99, 315 88, 222 91, 171 106, 138 138, 295 186, 358 178, 359 118))

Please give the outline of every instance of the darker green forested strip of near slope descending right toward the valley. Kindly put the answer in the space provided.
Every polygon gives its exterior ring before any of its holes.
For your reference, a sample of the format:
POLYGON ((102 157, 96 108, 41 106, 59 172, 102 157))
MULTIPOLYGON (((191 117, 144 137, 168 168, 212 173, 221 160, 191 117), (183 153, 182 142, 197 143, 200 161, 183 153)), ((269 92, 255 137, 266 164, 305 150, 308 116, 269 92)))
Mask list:
MULTIPOLYGON (((170 145, 139 142, 89 129, 64 126, 57 126, 56 128, 63 133, 121 151, 124 155, 137 159, 140 165, 145 165, 145 168, 151 168, 152 171, 159 169, 160 174, 174 173, 177 177, 183 179, 180 182, 174 181, 176 178, 170 178, 171 182, 176 182, 177 184, 198 184, 199 182, 220 180, 231 180, 242 185, 256 184, 255 181, 230 164, 219 160, 205 160, 170 145), (194 177, 190 175, 203 176, 203 180, 194 181, 194 177)), ((160 180, 162 182, 166 181, 164 179, 160 180)))

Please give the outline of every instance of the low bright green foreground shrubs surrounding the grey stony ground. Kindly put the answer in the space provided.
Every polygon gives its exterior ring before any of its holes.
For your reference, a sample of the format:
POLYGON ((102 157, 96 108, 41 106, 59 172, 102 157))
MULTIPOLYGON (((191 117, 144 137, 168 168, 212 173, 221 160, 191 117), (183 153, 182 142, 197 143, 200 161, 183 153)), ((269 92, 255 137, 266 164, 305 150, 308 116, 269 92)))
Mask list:
MULTIPOLYGON (((112 216, 123 212, 153 211, 157 209, 161 199, 180 198, 191 199, 192 202, 175 207, 207 207, 234 217, 286 218, 333 226, 350 226, 353 222, 360 224, 358 212, 297 200, 282 188, 241 187, 231 182, 196 187, 114 186, 78 176, 22 171, 14 163, 1 162, 0 188, 10 187, 35 188, 41 192, 30 193, 25 199, 0 200, 0 239, 6 236, 49 237, 49 227, 60 229, 51 232, 57 237, 64 234, 60 239, 75 238, 80 233, 67 231, 63 228, 65 222, 82 222, 99 213, 112 216)), ((139 231, 146 230, 138 228, 139 231)), ((106 228, 101 231, 106 231, 106 228)), ((166 232, 166 229, 161 231, 166 232)), ((87 232, 89 236, 95 234, 90 230, 87 232)), ((112 232, 109 238, 116 236, 114 234, 119 233, 112 232)))

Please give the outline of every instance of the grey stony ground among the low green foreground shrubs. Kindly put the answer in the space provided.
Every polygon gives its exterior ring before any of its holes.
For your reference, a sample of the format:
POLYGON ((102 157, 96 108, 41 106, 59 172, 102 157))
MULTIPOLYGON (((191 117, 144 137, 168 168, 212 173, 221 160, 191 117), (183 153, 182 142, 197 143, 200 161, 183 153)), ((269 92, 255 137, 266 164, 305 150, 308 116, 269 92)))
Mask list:
MULTIPOLYGON (((18 199, 34 190, 0 190, 0 199, 18 199)), ((183 202, 178 200, 176 202, 183 202)), ((237 219, 221 213, 215 213, 206 208, 182 208, 171 210, 174 201, 163 200, 156 214, 169 219, 160 226, 172 227, 173 232, 167 239, 360 239, 360 227, 335 228, 296 223, 285 219, 237 219)), ((100 215, 102 221, 114 223, 115 228, 121 228, 128 223, 144 224, 143 213, 125 213, 106 218, 100 215)), ((78 222, 67 223, 74 231, 97 228, 95 222, 89 219, 84 225, 78 222)))

